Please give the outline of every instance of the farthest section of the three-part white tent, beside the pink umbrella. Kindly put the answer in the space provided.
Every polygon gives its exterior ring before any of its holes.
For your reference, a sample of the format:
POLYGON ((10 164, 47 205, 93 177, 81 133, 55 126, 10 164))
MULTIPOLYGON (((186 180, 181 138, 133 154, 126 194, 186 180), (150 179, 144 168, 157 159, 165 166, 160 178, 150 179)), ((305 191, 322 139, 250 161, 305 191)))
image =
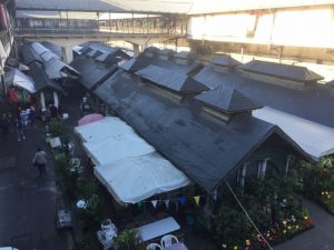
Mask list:
POLYGON ((136 133, 131 127, 116 117, 106 117, 102 120, 76 127, 76 132, 86 142, 102 141, 109 137, 117 138, 125 133, 136 133))

